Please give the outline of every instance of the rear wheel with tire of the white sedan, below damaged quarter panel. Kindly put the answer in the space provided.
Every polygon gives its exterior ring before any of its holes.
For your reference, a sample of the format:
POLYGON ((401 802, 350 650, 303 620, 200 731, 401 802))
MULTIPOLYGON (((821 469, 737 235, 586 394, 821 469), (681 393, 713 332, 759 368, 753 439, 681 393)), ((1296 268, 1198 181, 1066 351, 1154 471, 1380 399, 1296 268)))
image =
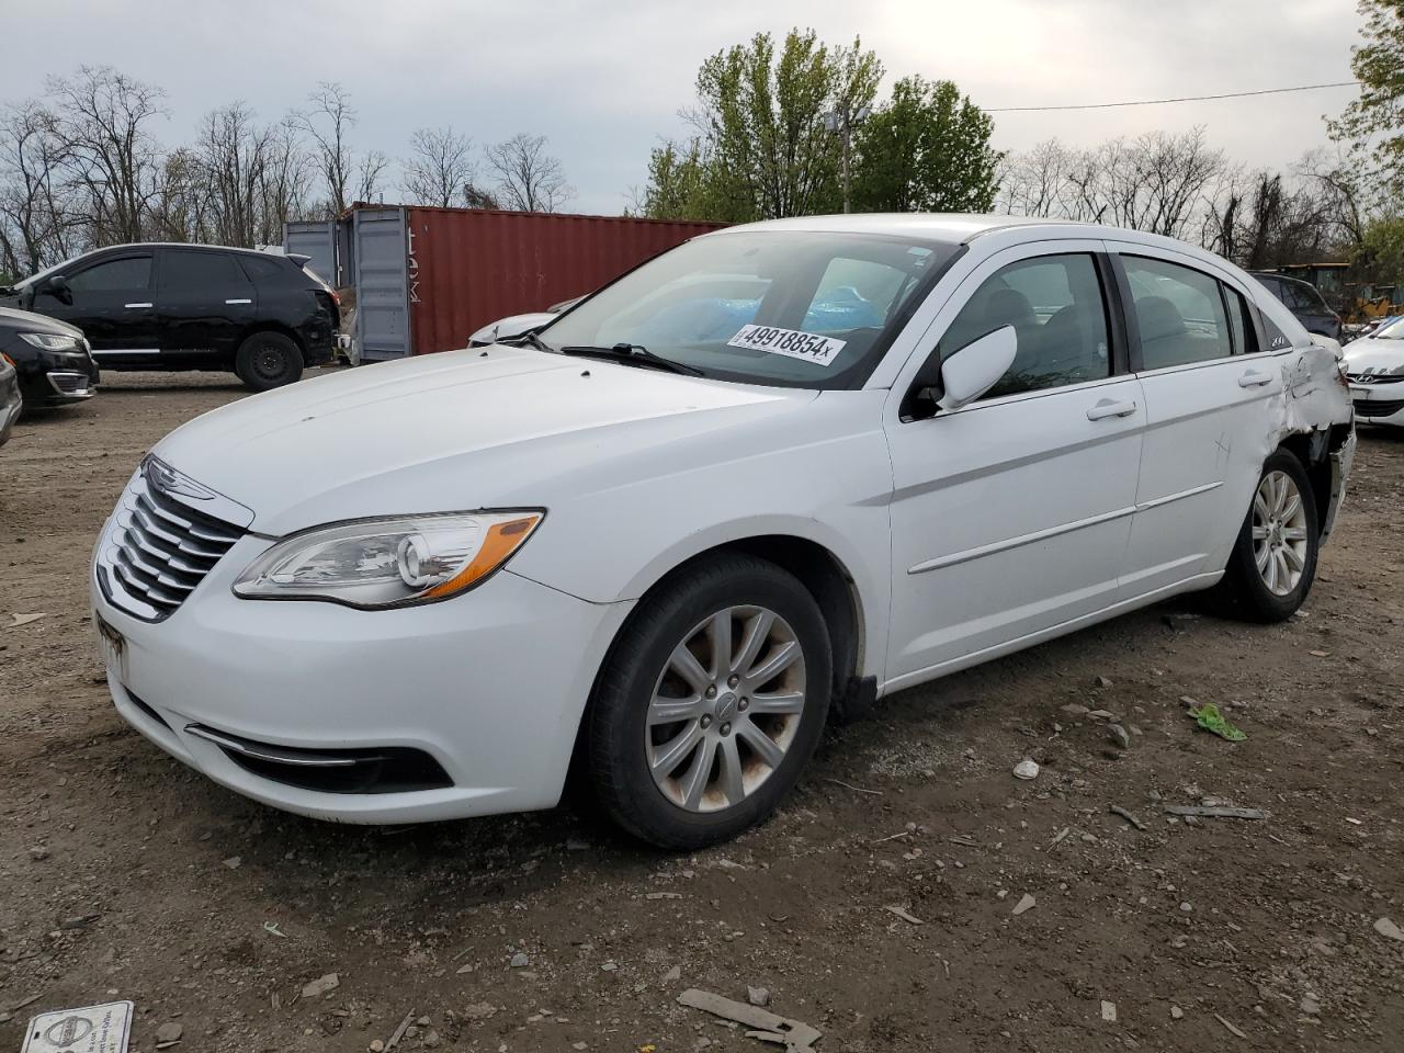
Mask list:
POLYGON ((1296 455, 1268 458, 1220 584, 1227 612, 1251 622, 1290 618, 1316 578, 1320 519, 1296 455), (1266 556, 1266 559, 1264 559, 1266 556))

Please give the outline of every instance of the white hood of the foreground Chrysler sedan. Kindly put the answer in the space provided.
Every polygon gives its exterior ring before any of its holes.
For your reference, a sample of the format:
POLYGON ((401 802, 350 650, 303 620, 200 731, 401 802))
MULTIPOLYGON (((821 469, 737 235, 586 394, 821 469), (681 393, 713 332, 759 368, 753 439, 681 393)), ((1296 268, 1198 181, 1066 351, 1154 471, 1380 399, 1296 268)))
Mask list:
POLYGON ((371 515, 549 508, 816 396, 494 345, 251 396, 153 452, 253 510, 253 531, 282 535, 371 515))

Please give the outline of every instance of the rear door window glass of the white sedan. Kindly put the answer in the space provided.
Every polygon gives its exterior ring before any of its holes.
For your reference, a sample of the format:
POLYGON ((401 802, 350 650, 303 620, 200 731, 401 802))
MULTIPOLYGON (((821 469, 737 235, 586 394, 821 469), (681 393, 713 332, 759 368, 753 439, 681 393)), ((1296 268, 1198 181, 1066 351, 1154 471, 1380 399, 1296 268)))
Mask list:
POLYGON ((1122 263, 1132 286, 1143 369, 1233 354, 1228 319, 1214 278, 1164 260, 1125 256, 1122 263))

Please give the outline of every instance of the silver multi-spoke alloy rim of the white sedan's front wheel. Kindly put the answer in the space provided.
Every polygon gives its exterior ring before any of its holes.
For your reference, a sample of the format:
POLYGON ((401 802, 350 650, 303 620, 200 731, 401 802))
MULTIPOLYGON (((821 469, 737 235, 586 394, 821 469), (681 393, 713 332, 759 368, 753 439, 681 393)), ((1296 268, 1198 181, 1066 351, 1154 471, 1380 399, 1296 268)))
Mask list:
POLYGON ((781 767, 804 710, 804 653, 764 607, 729 607, 668 656, 644 727, 649 771, 687 812, 740 804, 781 767))

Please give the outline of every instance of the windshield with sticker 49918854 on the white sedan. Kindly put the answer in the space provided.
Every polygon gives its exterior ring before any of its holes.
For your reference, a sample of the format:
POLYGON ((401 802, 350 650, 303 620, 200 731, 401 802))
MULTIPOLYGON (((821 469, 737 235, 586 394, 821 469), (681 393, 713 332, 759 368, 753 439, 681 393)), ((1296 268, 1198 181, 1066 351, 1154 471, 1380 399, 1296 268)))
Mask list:
POLYGON ((956 246, 879 234, 699 237, 600 291, 541 336, 644 347, 706 376, 854 388, 956 246))

